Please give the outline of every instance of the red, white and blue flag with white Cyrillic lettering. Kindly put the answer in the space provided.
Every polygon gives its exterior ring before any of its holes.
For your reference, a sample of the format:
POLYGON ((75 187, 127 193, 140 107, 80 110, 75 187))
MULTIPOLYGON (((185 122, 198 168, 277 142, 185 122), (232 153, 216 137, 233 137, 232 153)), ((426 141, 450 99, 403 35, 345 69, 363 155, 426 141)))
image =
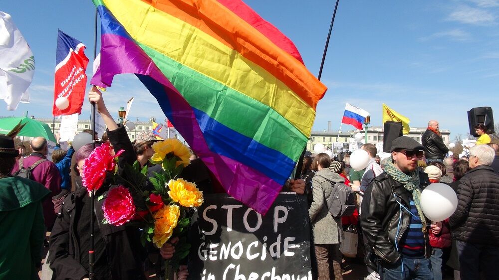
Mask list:
POLYGON ((54 104, 52 109, 54 117, 81 113, 87 84, 85 70, 88 64, 88 58, 85 56, 84 50, 85 45, 59 30, 55 57, 54 104), (67 108, 61 110, 55 106, 58 98, 60 98, 59 100, 67 98, 67 101, 69 101, 67 108))

